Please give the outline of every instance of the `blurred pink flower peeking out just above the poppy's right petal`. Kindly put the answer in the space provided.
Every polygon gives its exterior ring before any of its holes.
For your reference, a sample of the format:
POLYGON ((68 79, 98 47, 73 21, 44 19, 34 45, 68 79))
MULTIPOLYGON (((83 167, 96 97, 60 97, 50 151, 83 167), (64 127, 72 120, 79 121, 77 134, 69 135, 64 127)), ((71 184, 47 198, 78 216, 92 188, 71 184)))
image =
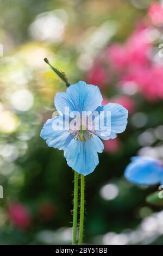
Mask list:
POLYGON ((135 110, 135 101, 127 95, 118 95, 109 100, 103 97, 102 105, 105 105, 109 102, 122 105, 128 110, 129 114, 133 113, 135 110))

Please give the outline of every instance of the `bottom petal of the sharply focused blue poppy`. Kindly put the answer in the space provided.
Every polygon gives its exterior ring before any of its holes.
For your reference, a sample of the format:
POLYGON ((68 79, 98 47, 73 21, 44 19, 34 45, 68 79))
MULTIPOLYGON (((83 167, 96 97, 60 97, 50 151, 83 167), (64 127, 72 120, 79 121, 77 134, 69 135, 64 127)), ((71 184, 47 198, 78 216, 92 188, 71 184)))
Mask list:
POLYGON ((67 164, 76 172, 87 175, 93 172, 98 164, 98 153, 102 153, 104 145, 96 135, 86 142, 72 139, 64 151, 67 164))

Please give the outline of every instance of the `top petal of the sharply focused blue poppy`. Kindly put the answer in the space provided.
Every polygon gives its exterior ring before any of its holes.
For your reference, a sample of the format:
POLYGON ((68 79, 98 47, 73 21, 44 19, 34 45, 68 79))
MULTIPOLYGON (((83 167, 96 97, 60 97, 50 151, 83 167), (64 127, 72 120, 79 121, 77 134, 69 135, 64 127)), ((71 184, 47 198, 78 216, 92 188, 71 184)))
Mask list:
POLYGON ((65 107, 71 111, 95 111, 101 106, 102 95, 97 86, 79 81, 67 88, 65 93, 55 94, 55 107, 58 112, 64 114, 65 107))

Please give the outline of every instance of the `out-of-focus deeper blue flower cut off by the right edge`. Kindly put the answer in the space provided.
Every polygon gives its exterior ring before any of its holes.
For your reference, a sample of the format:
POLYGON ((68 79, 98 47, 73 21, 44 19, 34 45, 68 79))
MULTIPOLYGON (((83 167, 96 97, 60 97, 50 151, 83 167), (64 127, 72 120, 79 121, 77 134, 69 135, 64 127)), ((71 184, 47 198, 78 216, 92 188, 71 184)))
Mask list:
POLYGON ((127 180, 138 185, 163 185, 163 166, 161 161, 145 156, 132 157, 124 171, 127 180))

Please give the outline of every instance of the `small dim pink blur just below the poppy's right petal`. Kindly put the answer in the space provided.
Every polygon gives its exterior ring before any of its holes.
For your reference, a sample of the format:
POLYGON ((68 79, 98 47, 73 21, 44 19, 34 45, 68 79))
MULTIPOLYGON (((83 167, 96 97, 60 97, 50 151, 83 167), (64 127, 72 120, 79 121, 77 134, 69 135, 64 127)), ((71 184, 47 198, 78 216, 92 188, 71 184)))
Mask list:
POLYGON ((121 142, 118 138, 108 139, 108 141, 103 141, 104 151, 109 153, 117 153, 121 149, 121 142))

